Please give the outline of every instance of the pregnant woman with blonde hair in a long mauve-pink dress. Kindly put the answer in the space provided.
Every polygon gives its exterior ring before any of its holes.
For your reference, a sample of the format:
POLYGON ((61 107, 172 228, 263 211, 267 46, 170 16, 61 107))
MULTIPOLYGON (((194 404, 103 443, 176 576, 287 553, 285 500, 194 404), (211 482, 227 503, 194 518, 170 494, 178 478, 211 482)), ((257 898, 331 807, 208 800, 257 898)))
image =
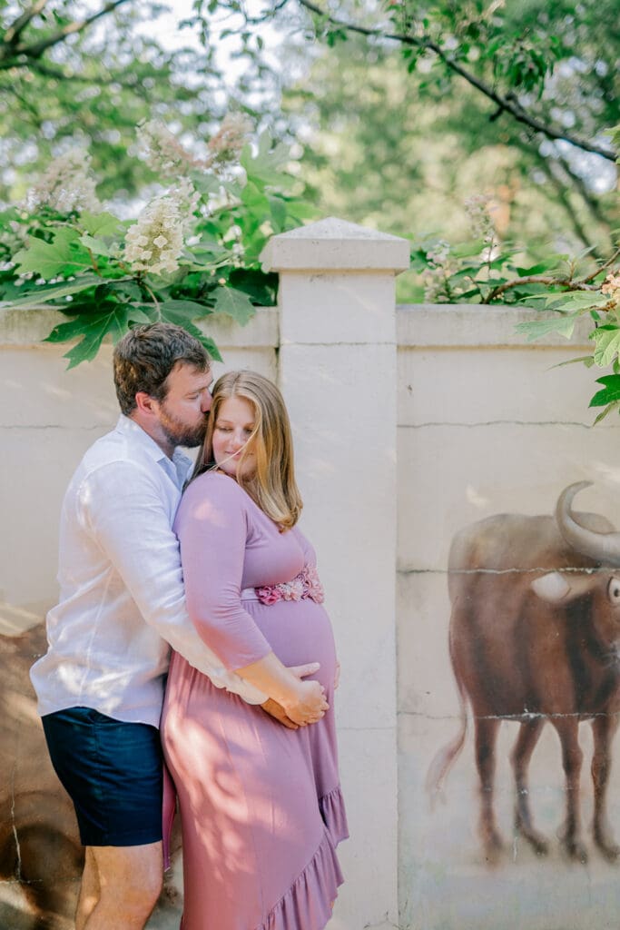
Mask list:
POLYGON ((187 602, 204 641, 287 725, 173 656, 162 736, 183 836, 182 930, 323 930, 342 883, 336 652, 301 506, 282 395, 253 372, 224 375, 177 517, 187 602), (309 662, 320 663, 312 679, 286 668, 309 662))

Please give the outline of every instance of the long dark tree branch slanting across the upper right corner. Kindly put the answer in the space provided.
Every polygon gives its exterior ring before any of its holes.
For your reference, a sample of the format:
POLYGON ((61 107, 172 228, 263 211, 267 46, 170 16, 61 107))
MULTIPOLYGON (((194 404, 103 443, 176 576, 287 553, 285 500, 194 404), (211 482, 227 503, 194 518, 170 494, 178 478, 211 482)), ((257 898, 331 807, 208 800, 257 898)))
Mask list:
MULTIPOLYGON (((306 7, 312 13, 316 13, 318 16, 321 16, 323 20, 332 23, 334 26, 337 26, 339 29, 345 29, 350 33, 360 33, 361 35, 374 36, 376 38, 390 39, 394 42, 399 42, 405 46, 416 46, 417 48, 426 48, 429 51, 435 53, 435 55, 440 58, 445 66, 451 71, 454 71, 456 74, 459 74, 464 78, 468 84, 472 87, 475 87, 489 100, 493 100, 498 108, 505 110, 507 113, 517 120, 519 123, 523 123, 525 126, 530 126, 531 129, 534 129, 535 132, 540 132, 543 135, 547 136, 547 139, 553 140, 564 140, 570 142, 571 145, 576 146, 578 149, 583 149, 585 152, 593 152, 597 155, 601 155, 602 158, 608 159, 608 161, 615 162, 615 153, 611 149, 606 149, 603 146, 596 145, 594 142, 588 142, 585 139, 580 139, 577 136, 574 136, 572 133, 564 132, 561 129, 556 129, 554 126, 547 126, 545 123, 542 123, 535 116, 531 116, 529 113, 526 113, 517 100, 511 99, 509 95, 502 96, 498 94, 493 87, 486 84, 484 81, 481 81, 479 77, 476 77, 475 74, 468 72, 463 65, 459 64, 458 61, 450 58, 447 55, 441 46, 438 46, 437 43, 433 42, 428 37, 416 38, 414 35, 406 35, 403 33, 384 33, 379 29, 367 29, 364 26, 359 26, 356 23, 348 22, 346 20, 338 20, 334 16, 330 16, 329 13, 326 13, 321 7, 317 7, 316 4, 312 3, 312 0, 299 0, 299 4, 302 7, 306 7)), ((497 118, 498 113, 495 114, 497 118)))

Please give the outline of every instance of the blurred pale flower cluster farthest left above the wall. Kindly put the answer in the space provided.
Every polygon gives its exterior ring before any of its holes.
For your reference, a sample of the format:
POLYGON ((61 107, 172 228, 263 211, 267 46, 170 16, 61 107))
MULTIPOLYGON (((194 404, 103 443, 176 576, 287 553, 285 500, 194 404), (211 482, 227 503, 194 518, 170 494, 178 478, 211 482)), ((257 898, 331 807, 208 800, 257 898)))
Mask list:
POLYGON ((89 167, 90 155, 84 149, 71 149, 59 155, 28 193, 27 208, 50 206, 58 213, 99 212, 101 205, 89 167))

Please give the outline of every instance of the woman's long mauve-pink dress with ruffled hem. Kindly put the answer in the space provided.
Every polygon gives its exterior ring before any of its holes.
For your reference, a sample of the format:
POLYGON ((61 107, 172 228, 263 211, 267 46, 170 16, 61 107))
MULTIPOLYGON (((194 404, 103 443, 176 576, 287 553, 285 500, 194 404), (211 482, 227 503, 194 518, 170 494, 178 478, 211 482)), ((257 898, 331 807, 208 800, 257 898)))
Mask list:
POLYGON ((191 618, 230 670, 273 649, 285 665, 321 663, 330 710, 288 730, 215 687, 177 654, 165 696, 165 761, 183 836, 183 930, 322 930, 348 836, 340 794, 336 653, 321 604, 262 604, 244 589, 288 582, 314 551, 281 533, 237 483, 206 473, 186 491, 176 530, 191 618))

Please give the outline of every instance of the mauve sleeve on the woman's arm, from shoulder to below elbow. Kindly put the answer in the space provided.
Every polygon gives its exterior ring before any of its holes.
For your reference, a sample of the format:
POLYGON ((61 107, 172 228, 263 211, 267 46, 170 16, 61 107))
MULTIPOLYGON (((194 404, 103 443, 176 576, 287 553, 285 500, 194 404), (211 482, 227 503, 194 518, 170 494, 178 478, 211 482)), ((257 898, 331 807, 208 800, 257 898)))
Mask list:
POLYGON ((183 495, 176 521, 191 620, 229 671, 271 651, 241 600, 246 514, 245 493, 232 478, 204 474, 183 495))

